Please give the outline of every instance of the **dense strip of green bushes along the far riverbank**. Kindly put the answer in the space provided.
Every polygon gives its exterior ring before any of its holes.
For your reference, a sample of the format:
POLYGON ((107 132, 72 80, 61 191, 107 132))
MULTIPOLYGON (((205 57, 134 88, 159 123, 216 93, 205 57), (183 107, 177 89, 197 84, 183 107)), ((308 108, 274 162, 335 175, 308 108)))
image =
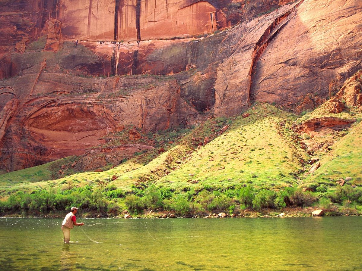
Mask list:
POLYGON ((30 194, 18 192, 0 201, 1 215, 18 214, 22 216, 46 215, 63 212, 71 206, 82 209, 82 213, 120 215, 124 209, 131 214, 142 215, 146 210, 169 211, 180 216, 208 214, 212 212, 238 213, 242 210, 263 211, 282 210, 286 207, 318 206, 338 214, 341 208, 348 212, 362 213, 362 189, 350 185, 337 187, 320 193, 302 192, 296 187, 279 191, 252 186, 211 187, 199 186, 198 190, 184 188, 172 191, 166 187, 133 187, 126 192, 109 185, 103 189, 85 187, 67 190, 42 190, 30 194))

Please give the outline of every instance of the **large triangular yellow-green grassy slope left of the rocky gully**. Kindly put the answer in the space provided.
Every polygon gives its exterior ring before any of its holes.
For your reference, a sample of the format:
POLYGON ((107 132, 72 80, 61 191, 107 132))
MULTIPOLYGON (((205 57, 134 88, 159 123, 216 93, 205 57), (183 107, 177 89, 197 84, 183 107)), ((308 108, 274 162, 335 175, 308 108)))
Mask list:
POLYGON ((295 116, 263 103, 246 113, 250 116, 236 117, 223 134, 181 160, 178 168, 158 183, 173 189, 297 184, 295 176, 304 171, 307 156, 285 127, 295 116))

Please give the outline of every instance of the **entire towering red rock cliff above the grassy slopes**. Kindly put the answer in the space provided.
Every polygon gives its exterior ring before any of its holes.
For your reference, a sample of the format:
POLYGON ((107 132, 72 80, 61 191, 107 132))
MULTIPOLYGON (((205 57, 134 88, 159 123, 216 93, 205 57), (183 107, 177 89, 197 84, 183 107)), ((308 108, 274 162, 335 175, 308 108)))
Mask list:
MULTIPOLYGON (((361 12, 355 0, 5 1, 0 169, 84 154, 122 125, 318 106, 360 76, 361 12)), ((359 87, 337 97, 359 105, 359 87)))

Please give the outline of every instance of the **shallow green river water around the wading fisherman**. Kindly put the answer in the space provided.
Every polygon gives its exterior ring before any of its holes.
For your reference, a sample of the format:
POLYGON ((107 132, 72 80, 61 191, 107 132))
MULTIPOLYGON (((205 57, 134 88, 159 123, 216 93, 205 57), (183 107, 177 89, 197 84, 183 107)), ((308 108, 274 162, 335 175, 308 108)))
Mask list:
POLYGON ((77 222, 0 218, 0 270, 362 270, 362 217, 77 222))

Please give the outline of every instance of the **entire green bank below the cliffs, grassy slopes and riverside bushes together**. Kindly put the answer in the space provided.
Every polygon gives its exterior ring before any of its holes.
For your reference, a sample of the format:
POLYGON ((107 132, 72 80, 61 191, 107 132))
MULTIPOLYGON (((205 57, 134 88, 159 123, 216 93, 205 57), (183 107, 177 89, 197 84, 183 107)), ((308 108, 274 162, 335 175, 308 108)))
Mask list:
MULTIPOLYGON (((361 212, 361 112, 349 108, 340 113, 357 120, 344 131, 327 130, 306 138, 292 130, 297 123, 323 115, 321 108, 298 117, 258 103, 245 112, 247 117, 214 118, 197 127, 150 134, 154 150, 135 153, 134 158, 102 172, 67 169, 59 174, 62 164, 78 159, 69 157, 3 174, 0 211, 56 215, 77 205, 89 214, 119 215, 128 210, 144 216, 219 211, 273 214, 292 212, 294 207, 300 212, 299 207, 308 206, 323 207, 330 214, 361 212), (332 145, 331 151, 314 151, 321 166, 310 173, 311 155, 304 143, 323 145, 323 141, 332 145), (336 184, 339 178, 347 181, 343 188, 336 184), (314 192, 302 192, 304 186, 314 192)), ((308 212, 303 209, 302 214, 308 212)))

